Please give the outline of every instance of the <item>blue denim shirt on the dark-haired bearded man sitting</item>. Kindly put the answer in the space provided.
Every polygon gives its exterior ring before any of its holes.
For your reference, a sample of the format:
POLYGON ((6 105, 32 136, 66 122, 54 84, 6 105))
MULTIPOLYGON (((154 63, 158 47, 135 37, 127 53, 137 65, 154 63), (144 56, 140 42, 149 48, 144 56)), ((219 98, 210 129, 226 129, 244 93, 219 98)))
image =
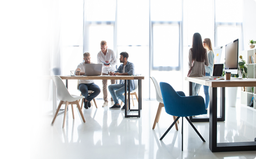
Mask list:
MULTIPOLYGON (((123 63, 118 67, 118 69, 115 71, 115 73, 123 73, 123 63)), ((128 75, 135 75, 134 65, 132 62, 127 61, 125 66, 125 73, 128 73, 128 75)), ((121 83, 121 80, 120 80, 121 83)), ((134 80, 130 80, 130 91, 135 89, 134 80)))

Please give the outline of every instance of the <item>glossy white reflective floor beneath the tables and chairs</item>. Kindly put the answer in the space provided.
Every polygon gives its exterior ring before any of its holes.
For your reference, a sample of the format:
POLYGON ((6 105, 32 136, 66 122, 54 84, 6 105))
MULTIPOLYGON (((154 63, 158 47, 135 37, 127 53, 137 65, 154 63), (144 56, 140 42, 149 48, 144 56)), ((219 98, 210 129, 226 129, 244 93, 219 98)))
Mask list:
MULTIPOLYGON (((226 121, 218 122, 218 142, 254 141, 256 111, 241 106, 226 107, 226 121)), ((158 102, 143 100, 140 118, 124 118, 124 111, 102 108, 103 100, 83 108, 86 123, 71 106, 65 128, 63 114, 56 118, 42 118, 38 137, 32 145, 34 159, 255 159, 256 151, 211 152, 209 122, 193 123, 206 142, 202 142, 189 123, 184 120, 183 152, 181 151, 181 118, 179 131, 173 127, 165 138, 159 139, 172 124, 172 116, 162 109, 155 129, 152 129, 158 102)), ((132 106, 133 107, 133 106, 132 106)))

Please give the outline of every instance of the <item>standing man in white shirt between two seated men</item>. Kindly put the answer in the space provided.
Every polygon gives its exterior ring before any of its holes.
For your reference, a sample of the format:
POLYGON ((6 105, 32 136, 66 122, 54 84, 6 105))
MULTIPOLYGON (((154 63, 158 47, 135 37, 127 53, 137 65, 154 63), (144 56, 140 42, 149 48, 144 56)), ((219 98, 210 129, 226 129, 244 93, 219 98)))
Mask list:
MULTIPOLYGON (((116 71, 117 59, 116 54, 113 50, 109 49, 106 41, 101 41, 101 51, 97 55, 98 63, 105 62, 108 65, 102 63, 102 75, 109 75, 110 72, 116 71)), ((111 80, 111 84, 115 84, 116 79, 111 80)), ((104 104, 102 107, 108 106, 108 80, 102 80, 102 90, 104 104)), ((111 97, 111 105, 114 105, 113 98, 111 97)))

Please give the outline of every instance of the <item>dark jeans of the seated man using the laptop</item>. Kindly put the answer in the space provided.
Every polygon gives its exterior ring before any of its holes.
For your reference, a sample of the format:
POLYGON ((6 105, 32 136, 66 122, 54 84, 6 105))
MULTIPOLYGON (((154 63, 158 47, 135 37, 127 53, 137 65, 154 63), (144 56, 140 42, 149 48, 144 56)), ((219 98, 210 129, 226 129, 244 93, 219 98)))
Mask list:
POLYGON ((88 101, 93 100, 93 98, 97 97, 98 94, 101 93, 99 86, 94 83, 81 83, 79 84, 79 90, 81 91, 82 96, 84 96, 88 101), (88 90, 92 90, 94 92, 88 96, 88 90))

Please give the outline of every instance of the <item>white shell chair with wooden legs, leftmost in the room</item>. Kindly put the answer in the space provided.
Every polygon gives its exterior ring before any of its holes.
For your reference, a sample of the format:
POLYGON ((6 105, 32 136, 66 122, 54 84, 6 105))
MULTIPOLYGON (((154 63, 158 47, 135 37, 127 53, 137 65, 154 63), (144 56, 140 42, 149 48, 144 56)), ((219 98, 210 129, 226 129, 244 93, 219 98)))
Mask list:
POLYGON ((53 81, 56 85, 56 89, 57 89, 57 97, 60 99, 60 104, 56 110, 56 113, 54 115, 52 124, 54 123, 59 111, 60 111, 60 107, 62 104, 65 104, 65 111, 64 111, 64 118, 63 118, 63 125, 62 128, 64 128, 65 125, 65 121, 66 121, 66 114, 67 114, 67 106, 69 104, 71 104, 72 107, 72 115, 73 115, 73 119, 74 119, 74 109, 73 109, 73 104, 77 104, 77 108, 78 111, 81 114, 81 117, 85 123, 85 119, 84 119, 84 115, 83 112, 80 108, 80 105, 78 103, 78 100, 80 100, 81 98, 84 98, 84 96, 76 96, 76 95, 70 95, 69 91, 67 90, 67 87, 64 85, 62 79, 59 76, 51 76, 53 78, 53 81))

